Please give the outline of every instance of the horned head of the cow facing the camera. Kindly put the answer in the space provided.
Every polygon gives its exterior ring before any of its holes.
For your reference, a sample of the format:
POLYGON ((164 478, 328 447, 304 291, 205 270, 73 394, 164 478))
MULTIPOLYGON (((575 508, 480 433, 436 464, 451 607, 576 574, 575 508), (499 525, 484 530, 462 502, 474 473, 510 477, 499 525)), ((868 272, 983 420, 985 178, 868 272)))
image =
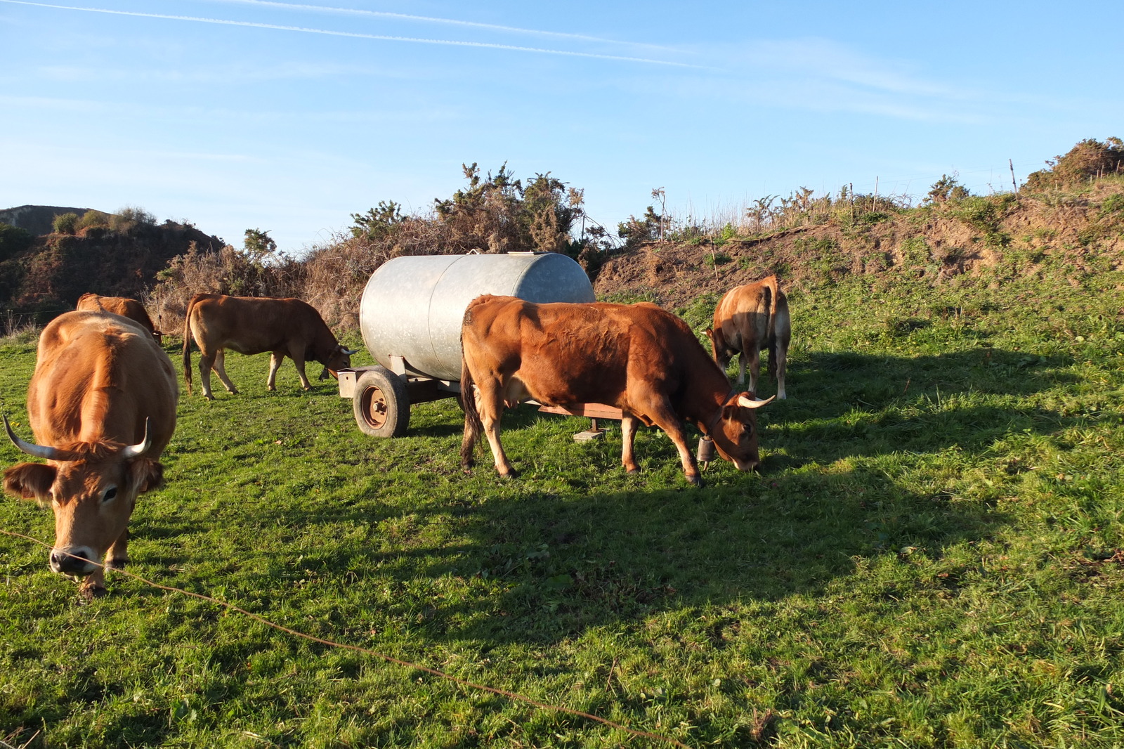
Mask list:
POLYGON ((99 442, 52 448, 25 442, 11 431, 7 417, 3 421, 17 448, 51 461, 18 463, 3 472, 9 495, 54 509, 51 569, 74 578, 96 571, 100 577, 94 562, 125 534, 137 495, 163 481, 163 467, 143 455, 148 449, 147 433, 134 445, 99 442))

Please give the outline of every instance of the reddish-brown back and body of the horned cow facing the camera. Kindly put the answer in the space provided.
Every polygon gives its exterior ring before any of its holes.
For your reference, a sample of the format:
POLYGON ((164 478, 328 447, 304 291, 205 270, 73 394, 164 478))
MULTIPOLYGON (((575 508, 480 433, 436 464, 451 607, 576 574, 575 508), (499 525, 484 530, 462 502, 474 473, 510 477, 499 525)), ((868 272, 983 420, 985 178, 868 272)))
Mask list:
POLYGON ((139 442, 149 421, 155 457, 175 428, 175 370, 152 334, 129 318, 75 310, 39 336, 27 392, 31 431, 40 444, 116 440, 139 442))

